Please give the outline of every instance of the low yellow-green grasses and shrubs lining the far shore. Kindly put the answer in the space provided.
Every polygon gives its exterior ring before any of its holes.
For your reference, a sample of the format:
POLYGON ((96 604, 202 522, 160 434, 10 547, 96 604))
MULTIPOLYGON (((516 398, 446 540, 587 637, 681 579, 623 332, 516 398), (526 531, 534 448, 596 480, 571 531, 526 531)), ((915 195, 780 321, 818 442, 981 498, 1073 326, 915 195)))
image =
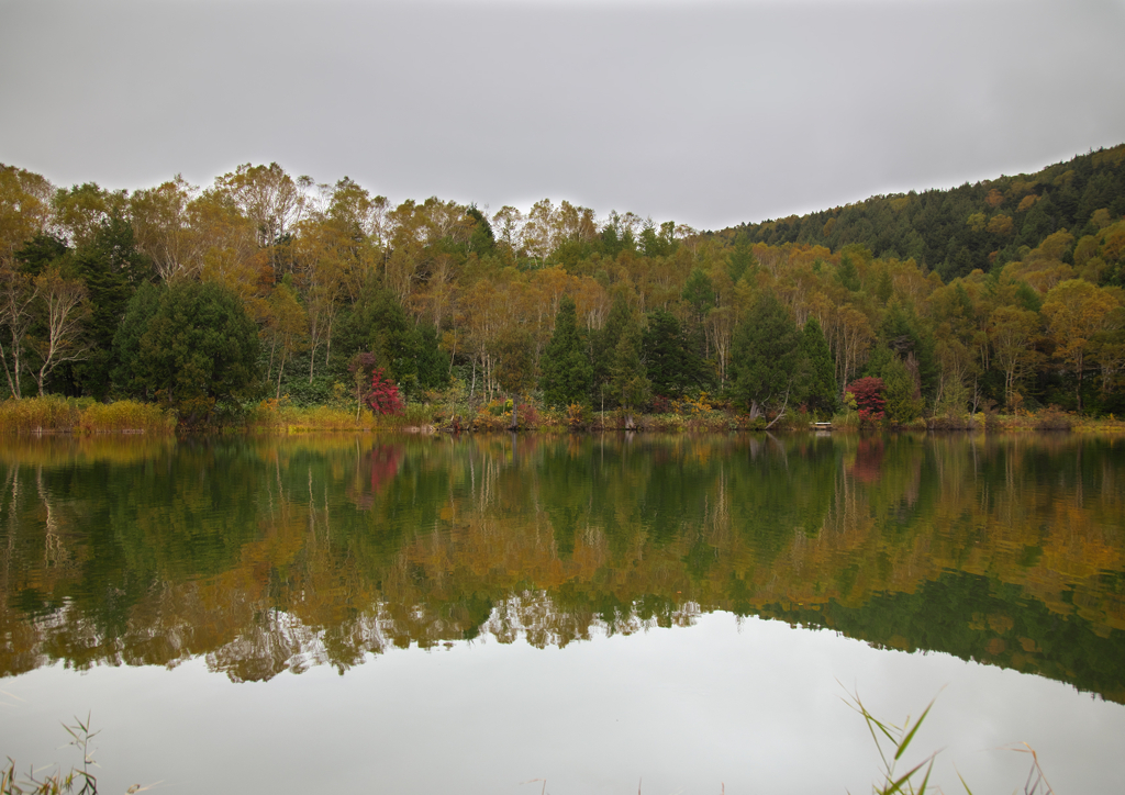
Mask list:
MULTIPOLYGON (((816 417, 790 409, 782 417, 752 419, 706 396, 669 401, 660 413, 596 412, 573 405, 565 410, 544 408, 539 401, 492 400, 470 404, 464 397, 431 396, 428 403, 407 403, 395 414, 378 415, 351 406, 295 406, 286 398, 262 400, 250 406, 227 408, 216 414, 214 423, 186 428, 176 412, 156 404, 136 400, 98 403, 91 398, 8 399, 0 403, 0 433, 266 433, 299 434, 320 432, 414 432, 414 433, 496 433, 534 431, 540 433, 637 431, 654 433, 729 433, 735 431, 808 431, 816 417)), ((845 409, 831 418, 832 431, 1074 431, 1080 433, 1125 433, 1125 421, 1113 415, 1086 417, 1059 410, 997 414, 980 412, 962 416, 917 419, 890 424, 872 422, 858 412, 845 409)))

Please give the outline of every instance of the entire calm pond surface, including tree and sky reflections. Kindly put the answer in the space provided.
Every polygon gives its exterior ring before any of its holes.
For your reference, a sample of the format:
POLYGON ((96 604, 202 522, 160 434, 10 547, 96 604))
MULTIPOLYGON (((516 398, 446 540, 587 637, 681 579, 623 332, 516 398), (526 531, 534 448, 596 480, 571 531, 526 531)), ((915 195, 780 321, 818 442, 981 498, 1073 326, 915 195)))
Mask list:
POLYGON ((104 793, 868 792, 856 693, 1125 779, 1125 440, 9 436, 0 548, 0 758, 104 793))

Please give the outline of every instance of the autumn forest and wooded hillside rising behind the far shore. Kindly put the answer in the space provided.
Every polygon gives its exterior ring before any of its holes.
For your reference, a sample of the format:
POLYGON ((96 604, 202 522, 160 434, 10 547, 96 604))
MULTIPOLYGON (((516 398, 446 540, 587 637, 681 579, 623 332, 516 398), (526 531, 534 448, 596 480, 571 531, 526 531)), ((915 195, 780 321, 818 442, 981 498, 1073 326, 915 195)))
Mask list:
POLYGON ((1125 144, 720 231, 566 200, 395 205, 277 163, 134 191, 0 164, 0 391, 184 425, 451 391, 765 424, 1119 414, 1123 215, 1125 144))

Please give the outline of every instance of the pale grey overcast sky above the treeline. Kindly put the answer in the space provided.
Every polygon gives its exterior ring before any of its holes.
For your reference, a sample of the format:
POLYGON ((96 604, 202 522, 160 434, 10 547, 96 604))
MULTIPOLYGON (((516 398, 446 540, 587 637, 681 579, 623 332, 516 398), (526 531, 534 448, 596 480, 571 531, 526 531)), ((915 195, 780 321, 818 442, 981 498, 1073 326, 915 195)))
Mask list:
POLYGON ((0 162, 698 228, 1125 142, 1125 0, 0 0, 0 162))

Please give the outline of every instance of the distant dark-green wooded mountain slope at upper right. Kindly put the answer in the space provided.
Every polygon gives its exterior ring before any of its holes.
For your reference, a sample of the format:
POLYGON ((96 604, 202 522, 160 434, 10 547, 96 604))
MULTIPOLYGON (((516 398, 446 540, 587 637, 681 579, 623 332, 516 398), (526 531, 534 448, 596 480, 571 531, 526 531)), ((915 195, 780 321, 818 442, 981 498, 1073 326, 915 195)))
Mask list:
POLYGON ((952 190, 874 196, 844 207, 742 224, 718 233, 745 243, 863 244, 876 258, 910 259, 948 281, 1022 258, 1020 247, 1066 229, 1096 234, 1095 214, 1125 215, 1125 144, 952 190))

